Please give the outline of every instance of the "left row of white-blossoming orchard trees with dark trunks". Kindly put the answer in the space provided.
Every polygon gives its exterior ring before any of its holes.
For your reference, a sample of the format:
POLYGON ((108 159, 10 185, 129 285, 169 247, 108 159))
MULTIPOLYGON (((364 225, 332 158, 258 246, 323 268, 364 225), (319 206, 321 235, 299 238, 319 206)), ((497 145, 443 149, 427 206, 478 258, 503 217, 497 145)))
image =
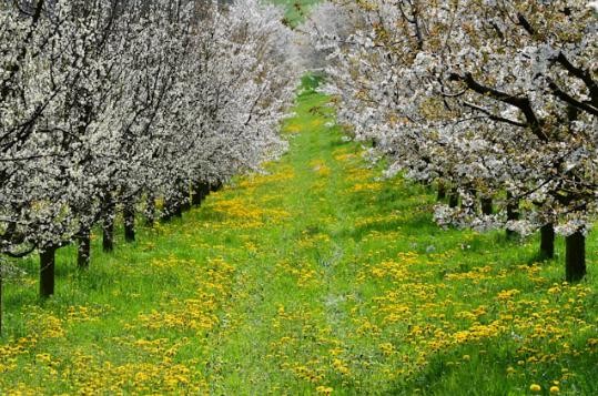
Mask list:
POLYGON ((170 216, 285 144, 277 122, 295 78, 282 13, 255 0, 0 2, 0 256, 90 258, 155 199, 170 216))

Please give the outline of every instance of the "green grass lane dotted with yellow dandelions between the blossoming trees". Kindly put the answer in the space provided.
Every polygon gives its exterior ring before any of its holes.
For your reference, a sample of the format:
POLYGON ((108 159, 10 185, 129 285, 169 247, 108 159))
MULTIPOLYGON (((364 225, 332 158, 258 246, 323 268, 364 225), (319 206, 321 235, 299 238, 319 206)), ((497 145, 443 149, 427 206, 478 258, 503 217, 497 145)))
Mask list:
MULTIPOLYGON (((440 230, 434 194, 378 181, 304 79, 290 152, 182 221, 140 230, 57 294, 6 293, 0 394, 598 393, 598 245, 562 283, 537 238, 440 230)), ((30 274, 37 261, 26 262, 30 274)))

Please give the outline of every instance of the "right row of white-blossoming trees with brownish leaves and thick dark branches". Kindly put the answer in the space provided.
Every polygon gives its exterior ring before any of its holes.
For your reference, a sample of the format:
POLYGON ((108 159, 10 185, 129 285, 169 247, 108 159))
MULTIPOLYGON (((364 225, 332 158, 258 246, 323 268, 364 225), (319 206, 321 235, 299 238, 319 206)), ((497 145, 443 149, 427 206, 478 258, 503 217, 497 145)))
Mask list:
POLYGON ((438 185, 449 199, 440 224, 541 229, 546 256, 564 234, 566 278, 580 280, 598 209, 598 20, 587 2, 357 9, 365 27, 320 35, 334 51, 326 90, 355 136, 392 159, 389 172, 438 185))

